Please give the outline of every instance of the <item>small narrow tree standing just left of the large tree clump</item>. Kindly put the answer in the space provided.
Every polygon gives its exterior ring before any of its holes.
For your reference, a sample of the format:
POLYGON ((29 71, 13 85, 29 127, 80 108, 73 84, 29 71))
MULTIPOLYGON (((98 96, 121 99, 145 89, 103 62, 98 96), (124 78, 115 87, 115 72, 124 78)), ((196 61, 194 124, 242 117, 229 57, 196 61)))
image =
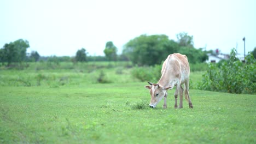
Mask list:
POLYGON ((112 41, 106 43, 106 47, 103 51, 108 61, 117 61, 117 47, 114 46, 112 41))

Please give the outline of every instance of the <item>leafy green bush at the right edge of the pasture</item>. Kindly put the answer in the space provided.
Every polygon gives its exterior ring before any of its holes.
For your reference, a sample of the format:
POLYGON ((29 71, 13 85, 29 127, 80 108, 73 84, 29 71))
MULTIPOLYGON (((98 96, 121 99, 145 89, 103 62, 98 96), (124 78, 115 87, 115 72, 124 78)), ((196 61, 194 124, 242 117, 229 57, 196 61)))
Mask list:
POLYGON ((249 93, 256 92, 256 60, 249 53, 246 63, 243 64, 236 58, 235 49, 230 53, 228 62, 223 62, 220 68, 216 64, 210 64, 200 89, 208 91, 249 93))

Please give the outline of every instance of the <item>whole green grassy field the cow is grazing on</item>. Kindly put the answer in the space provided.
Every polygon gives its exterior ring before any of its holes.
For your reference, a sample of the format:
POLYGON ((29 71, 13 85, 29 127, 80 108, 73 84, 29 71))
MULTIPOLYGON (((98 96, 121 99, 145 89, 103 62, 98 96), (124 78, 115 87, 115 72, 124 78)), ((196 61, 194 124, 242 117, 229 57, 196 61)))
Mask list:
POLYGON ((194 109, 174 109, 172 90, 150 109, 147 82, 121 65, 0 70, 0 143, 255 143, 256 95, 194 88, 194 109))

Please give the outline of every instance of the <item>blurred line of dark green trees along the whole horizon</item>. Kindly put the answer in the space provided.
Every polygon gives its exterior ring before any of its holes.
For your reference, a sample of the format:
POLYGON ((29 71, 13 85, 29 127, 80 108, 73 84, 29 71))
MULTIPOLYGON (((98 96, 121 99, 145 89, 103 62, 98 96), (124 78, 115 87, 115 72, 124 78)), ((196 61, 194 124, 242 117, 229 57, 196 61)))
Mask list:
POLYGON ((37 51, 26 53, 30 45, 27 40, 19 39, 5 44, 0 49, 0 62, 6 66, 10 66, 11 63, 37 61, 72 61, 74 63, 88 61, 131 61, 135 65, 155 65, 160 64, 171 53, 187 55, 190 63, 201 63, 208 59, 207 51, 194 47, 193 36, 185 32, 179 33, 176 36, 177 41, 169 39, 165 34, 142 34, 128 41, 124 45, 121 55, 117 54, 118 49, 113 42, 108 41, 103 50, 105 56, 88 56, 86 49, 82 48, 75 53, 74 57, 40 57, 37 51))

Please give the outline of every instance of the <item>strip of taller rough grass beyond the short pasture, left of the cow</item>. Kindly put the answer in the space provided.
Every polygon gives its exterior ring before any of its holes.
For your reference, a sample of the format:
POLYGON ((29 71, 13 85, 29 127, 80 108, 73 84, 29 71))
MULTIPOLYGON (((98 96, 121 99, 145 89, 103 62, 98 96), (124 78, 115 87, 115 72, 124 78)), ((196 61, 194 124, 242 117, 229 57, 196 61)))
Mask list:
POLYGON ((127 62, 90 62, 54 64, 54 68, 47 67, 48 63, 31 63, 31 67, 24 70, 0 69, 0 86, 49 86, 63 85, 77 86, 84 83, 98 83, 101 71, 108 83, 137 82, 131 76, 131 68, 127 62), (122 65, 123 64, 123 65, 122 65))

